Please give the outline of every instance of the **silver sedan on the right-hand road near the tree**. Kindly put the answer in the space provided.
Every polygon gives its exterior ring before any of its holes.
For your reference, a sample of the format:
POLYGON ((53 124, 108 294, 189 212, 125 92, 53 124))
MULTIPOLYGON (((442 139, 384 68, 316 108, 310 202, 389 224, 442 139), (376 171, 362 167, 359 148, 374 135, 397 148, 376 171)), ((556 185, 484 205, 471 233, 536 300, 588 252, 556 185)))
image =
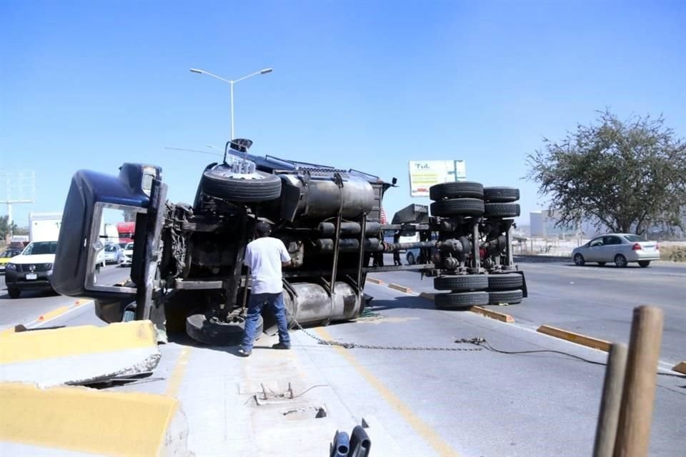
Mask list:
POLYGON ((651 261, 660 260, 660 247, 657 241, 647 241, 642 236, 609 233, 576 248, 572 251, 572 260, 578 266, 586 262, 597 262, 600 266, 614 262, 616 266, 625 267, 630 262, 638 262, 645 268, 651 261))

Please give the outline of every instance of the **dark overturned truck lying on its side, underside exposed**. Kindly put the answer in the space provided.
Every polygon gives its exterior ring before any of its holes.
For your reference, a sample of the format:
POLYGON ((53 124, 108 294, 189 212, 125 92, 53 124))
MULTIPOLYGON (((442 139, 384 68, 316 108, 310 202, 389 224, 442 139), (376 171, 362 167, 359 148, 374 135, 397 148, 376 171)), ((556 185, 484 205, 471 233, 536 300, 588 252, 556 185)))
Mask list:
POLYGON ((106 322, 149 319, 162 338, 186 331, 202 343, 235 343, 250 293, 244 249, 257 221, 267 221, 292 259, 284 270, 292 324, 357 318, 374 271, 435 276, 434 288, 444 291, 434 298, 438 308, 519 303, 527 295, 512 258, 518 189, 439 184, 430 189, 431 216, 427 206, 409 205, 384 224, 382 200, 395 179, 253 156, 251 145, 227 142, 224 160, 203 171, 192 205, 166 200, 157 166, 127 163, 118 176, 77 171, 57 244, 56 291, 94 298, 106 322), (135 214, 136 222, 130 277, 115 284, 99 281, 95 268, 107 210, 135 214), (418 233, 419 241, 390 242, 393 233, 418 233), (418 250, 416 264, 384 265, 384 253, 404 249, 418 250))

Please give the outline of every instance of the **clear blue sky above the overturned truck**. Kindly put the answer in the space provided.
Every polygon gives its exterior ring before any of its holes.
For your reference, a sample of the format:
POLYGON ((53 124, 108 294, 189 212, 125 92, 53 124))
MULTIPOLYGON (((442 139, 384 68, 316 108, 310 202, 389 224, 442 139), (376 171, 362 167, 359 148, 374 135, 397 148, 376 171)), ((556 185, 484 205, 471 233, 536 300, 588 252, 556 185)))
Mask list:
MULTIPOLYGON (((77 169, 158 164, 192 201, 229 136, 254 154, 390 180, 409 203, 407 161, 464 159, 467 177, 519 186, 542 137, 605 106, 664 114, 686 136, 686 6, 660 1, 14 1, 0 3, 0 170, 36 173, 36 202, 61 211, 77 169)), ((0 208, 0 214, 6 209, 0 208)), ((527 224, 528 217, 522 218, 527 224)))

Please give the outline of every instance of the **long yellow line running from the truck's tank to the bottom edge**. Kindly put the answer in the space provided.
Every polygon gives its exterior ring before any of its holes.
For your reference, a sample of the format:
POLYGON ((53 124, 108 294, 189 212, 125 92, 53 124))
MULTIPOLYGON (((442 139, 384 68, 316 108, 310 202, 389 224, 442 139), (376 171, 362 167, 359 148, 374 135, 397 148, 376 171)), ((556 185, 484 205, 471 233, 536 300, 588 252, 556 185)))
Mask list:
MULTIPOLYGON (((324 330, 324 328, 315 328, 314 331, 319 333, 319 336, 325 340, 332 339, 331 335, 329 335, 329 332, 324 330)), ((417 432, 417 434, 421 436, 439 456, 459 457, 459 454, 452 447, 450 447, 450 445, 438 433, 436 433, 436 431, 434 431, 429 424, 422 421, 422 419, 419 418, 412 411, 412 409, 409 408, 409 406, 403 403, 403 401, 398 398, 397 395, 395 395, 392 391, 389 391, 389 389, 384 386, 384 383, 379 381, 379 378, 374 376, 369 370, 367 370, 367 368, 364 368, 364 366, 362 366, 357 359, 348 352, 347 349, 334 346, 334 351, 337 351, 337 353, 345 358, 348 363, 350 363, 350 365, 357 370, 362 378, 369 383, 369 386, 375 388, 384 401, 392 406, 392 408, 394 408, 395 411, 397 411, 400 416, 402 416, 402 418, 409 423, 409 426, 411 426, 414 431, 417 432)))

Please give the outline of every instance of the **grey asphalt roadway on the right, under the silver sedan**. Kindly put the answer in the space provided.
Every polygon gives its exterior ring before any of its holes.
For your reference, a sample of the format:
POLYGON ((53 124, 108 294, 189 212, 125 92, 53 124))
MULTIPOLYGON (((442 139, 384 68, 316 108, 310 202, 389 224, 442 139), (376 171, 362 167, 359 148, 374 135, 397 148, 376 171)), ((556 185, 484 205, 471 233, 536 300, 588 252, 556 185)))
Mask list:
MULTIPOLYGON (((640 305, 662 308, 665 326, 661 359, 674 366, 686 360, 686 265, 653 263, 629 266, 575 266, 565 261, 520 259, 529 297, 520 304, 499 308, 517 325, 542 324, 565 328, 612 342, 627 342, 632 310, 640 305)), ((437 292, 433 278, 419 273, 374 273, 370 276, 412 288, 437 292)))

